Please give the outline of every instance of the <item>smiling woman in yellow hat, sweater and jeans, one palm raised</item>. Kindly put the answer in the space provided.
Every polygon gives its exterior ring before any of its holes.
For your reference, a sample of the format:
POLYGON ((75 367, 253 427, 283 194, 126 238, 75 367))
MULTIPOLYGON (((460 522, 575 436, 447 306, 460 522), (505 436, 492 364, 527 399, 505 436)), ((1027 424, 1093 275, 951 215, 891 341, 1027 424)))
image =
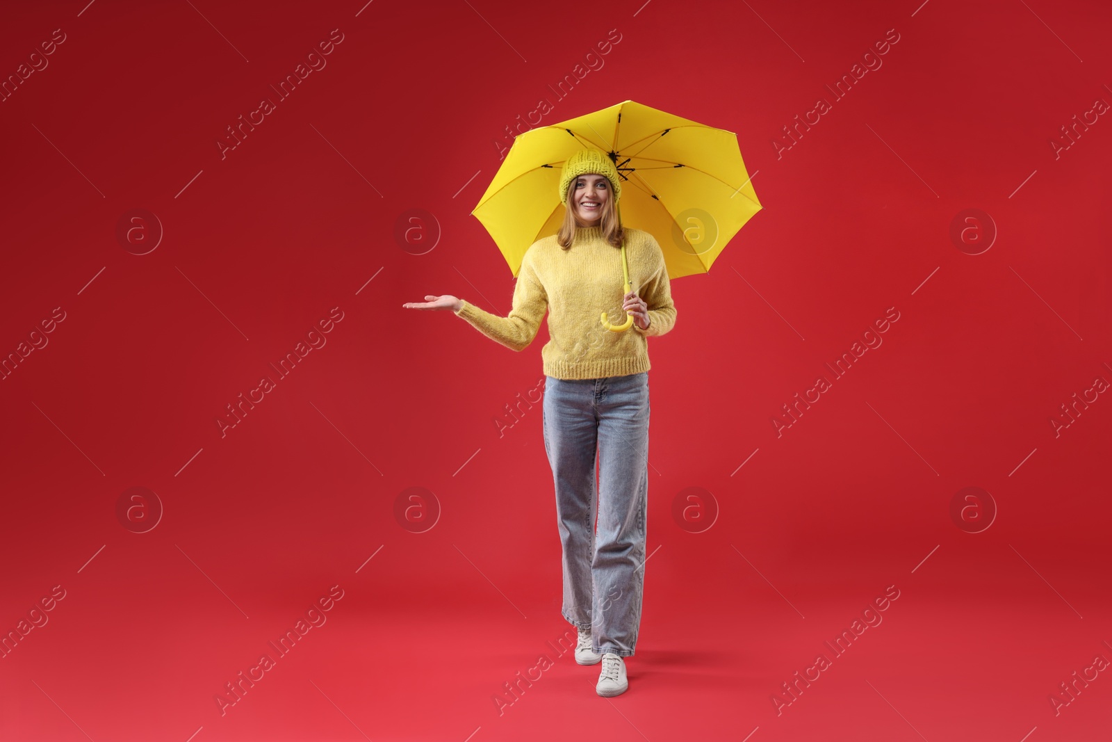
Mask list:
MULTIPOLYGON (((575 661, 603 663, 598 695, 628 687, 625 661, 641 626, 648 491, 648 348, 676 320, 661 246, 646 231, 623 228, 617 168, 596 149, 564 164, 564 222, 522 259, 508 317, 455 296, 426 296, 414 309, 451 309, 487 337, 524 350, 548 313, 544 359, 545 451, 556 487, 563 545, 563 615, 578 630, 575 661), (600 308, 614 306, 625 284, 619 248, 626 243, 629 283, 622 309, 633 327, 612 332, 600 308), (598 532, 595 534, 596 447, 598 532)), ((620 324, 625 315, 619 315, 620 324)), ((615 317, 609 319, 615 320, 615 317)))

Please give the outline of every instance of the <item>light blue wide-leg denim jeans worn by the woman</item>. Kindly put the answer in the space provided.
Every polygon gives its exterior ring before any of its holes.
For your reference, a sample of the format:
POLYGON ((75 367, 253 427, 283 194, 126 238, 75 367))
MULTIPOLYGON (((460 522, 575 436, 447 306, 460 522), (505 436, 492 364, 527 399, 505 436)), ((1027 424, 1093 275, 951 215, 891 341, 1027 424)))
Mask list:
POLYGON ((648 372, 547 376, 543 409, 564 548, 562 613, 574 626, 590 629, 596 654, 629 656, 645 581, 648 372))

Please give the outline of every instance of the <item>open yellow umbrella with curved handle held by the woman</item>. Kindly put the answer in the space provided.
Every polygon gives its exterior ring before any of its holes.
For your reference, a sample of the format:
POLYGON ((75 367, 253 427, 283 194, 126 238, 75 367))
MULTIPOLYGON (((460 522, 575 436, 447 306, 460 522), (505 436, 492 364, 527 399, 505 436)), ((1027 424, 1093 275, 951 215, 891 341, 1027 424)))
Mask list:
MULTIPOLYGON (((530 129, 471 214, 517 276, 525 251, 555 235, 566 207, 557 191, 564 161, 584 147, 606 152, 622 178, 623 225, 657 238, 668 278, 707 273, 726 244, 761 210, 737 135, 625 100, 593 113, 530 129)), ((629 291, 625 246, 622 268, 629 291)), ((612 326, 603 314, 603 324, 612 326)))

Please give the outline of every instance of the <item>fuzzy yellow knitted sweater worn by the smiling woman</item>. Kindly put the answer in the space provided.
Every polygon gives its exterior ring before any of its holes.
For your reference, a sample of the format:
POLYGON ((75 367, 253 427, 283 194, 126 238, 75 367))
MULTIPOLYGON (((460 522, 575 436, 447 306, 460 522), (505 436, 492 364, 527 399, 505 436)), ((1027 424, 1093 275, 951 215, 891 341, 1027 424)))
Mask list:
POLYGON ((522 259, 514 287, 514 306, 499 317, 463 300, 455 313, 493 340, 524 350, 540 328, 548 309, 549 339, 540 349, 546 376, 560 379, 627 376, 652 368, 651 335, 664 335, 676 323, 668 271, 656 239, 642 229, 625 228, 626 261, 633 291, 648 305, 648 328, 634 320, 629 329, 615 333, 603 327, 622 324, 622 251, 603 239, 602 227, 580 227, 568 249, 556 236, 529 246, 522 259))

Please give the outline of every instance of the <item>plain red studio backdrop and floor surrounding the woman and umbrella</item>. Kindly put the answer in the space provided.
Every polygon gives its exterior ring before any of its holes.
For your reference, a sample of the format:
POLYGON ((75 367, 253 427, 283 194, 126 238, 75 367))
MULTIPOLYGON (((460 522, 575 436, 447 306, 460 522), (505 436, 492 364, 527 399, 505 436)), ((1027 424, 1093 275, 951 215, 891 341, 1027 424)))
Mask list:
POLYGON ((1103 739, 1108 673, 1058 714, 1049 698, 1112 659, 1112 402, 1061 409, 1112 379, 1112 123, 1051 141, 1112 101, 1110 16, 8 3, 4 79, 66 40, 0 102, 0 352, 64 319, 0 382, 0 630, 64 597, 0 660, 0 736, 1103 739), (332 29, 327 66, 221 158, 226 127, 332 29), (883 66, 834 101, 824 86, 890 29, 883 66), (652 556, 613 700, 548 644, 569 625, 539 406, 496 422, 543 380, 546 330, 515 354, 401 308, 508 313, 514 279, 469 211, 542 97, 543 126, 632 99, 735 131, 765 206, 673 283, 676 327, 649 340, 652 556), (777 152, 820 97, 832 110, 777 152), (135 208, 165 231, 145 255, 116 235, 135 208), (951 238, 970 208, 995 225, 979 255, 951 238), (433 218, 399 243, 409 209, 433 218), (221 437, 225 406, 334 307, 327 344, 221 437), (883 345, 834 379, 824 364, 890 307, 883 345), (820 375, 832 388, 777 434, 820 375), (163 508, 146 533, 117 516, 136 486, 163 508), (424 533, 394 515, 408 487, 440 508, 424 533), (688 487, 719 508, 702 533, 672 515, 688 487), (964 487, 995 503, 987 530, 951 517, 964 487), (327 623, 221 714, 215 695, 334 585, 327 623), (890 585, 883 623, 777 714, 782 683, 890 585), (554 666, 499 714, 540 654, 554 666))

